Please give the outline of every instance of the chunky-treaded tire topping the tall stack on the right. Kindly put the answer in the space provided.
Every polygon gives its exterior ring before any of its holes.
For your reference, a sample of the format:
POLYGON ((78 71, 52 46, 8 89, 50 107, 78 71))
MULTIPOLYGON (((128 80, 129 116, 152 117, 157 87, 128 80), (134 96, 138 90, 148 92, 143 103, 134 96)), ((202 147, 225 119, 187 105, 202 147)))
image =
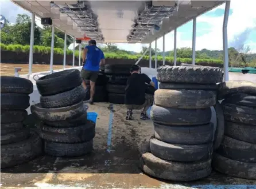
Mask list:
POLYGON ((216 84, 223 80, 223 70, 208 66, 160 66, 157 81, 161 83, 216 84))

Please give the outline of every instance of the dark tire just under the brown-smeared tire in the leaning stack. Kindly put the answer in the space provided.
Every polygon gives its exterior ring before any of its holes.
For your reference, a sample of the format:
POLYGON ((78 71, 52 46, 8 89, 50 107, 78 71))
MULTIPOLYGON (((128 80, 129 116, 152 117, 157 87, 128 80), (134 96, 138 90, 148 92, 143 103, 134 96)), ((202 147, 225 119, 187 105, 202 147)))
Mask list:
POLYGON ((61 128, 80 126, 82 124, 87 123, 87 111, 84 112, 82 115, 77 116, 77 118, 65 119, 57 122, 49 122, 45 120, 44 123, 47 124, 48 126, 61 127, 61 128))

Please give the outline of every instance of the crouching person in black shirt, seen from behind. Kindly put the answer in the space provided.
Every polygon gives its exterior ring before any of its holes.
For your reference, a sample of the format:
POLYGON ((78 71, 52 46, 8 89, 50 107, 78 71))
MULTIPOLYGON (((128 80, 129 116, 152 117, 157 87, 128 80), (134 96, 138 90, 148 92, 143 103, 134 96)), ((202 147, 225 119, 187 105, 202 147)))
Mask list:
POLYGON ((128 109, 126 119, 132 119, 133 110, 142 108, 141 119, 149 119, 146 111, 154 101, 154 82, 148 75, 141 74, 141 67, 138 65, 131 66, 130 72, 131 76, 127 79, 125 88, 125 104, 128 109))

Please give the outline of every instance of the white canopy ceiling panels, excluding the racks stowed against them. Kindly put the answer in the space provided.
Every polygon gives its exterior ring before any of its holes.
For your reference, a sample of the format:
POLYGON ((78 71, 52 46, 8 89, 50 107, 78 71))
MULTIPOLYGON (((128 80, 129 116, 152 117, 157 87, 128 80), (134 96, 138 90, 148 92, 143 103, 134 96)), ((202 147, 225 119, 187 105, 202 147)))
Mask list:
MULTIPOLYGON (((82 38, 84 34, 89 34, 83 30, 83 25, 78 25, 75 18, 61 13, 60 7, 64 5, 76 4, 77 1, 54 1, 57 7, 53 7, 52 1, 13 1, 22 8, 35 13, 40 18, 52 18, 52 24, 58 29, 67 32, 76 38, 82 38)), ((79 1, 81 2, 81 1, 79 1)), ((104 42, 126 43, 127 36, 134 29, 136 21, 145 8, 145 1, 88 1, 91 10, 98 16, 99 31, 96 35, 102 35, 104 42)), ((87 3, 88 3, 87 2, 87 3)), ((153 1, 156 7, 174 7, 168 17, 164 17, 158 26, 160 29, 150 29, 145 33, 141 43, 150 43, 162 35, 169 33, 176 27, 183 25, 200 14, 213 9, 225 1, 153 1)), ((70 9, 71 10, 71 9, 70 9)), ((81 10, 81 9, 80 9, 81 10)), ((88 19, 88 18, 87 18, 88 19)), ((77 20, 80 18, 77 17, 77 20)), ((90 32, 91 36, 94 36, 90 32)), ((138 42, 138 41, 137 41, 138 42)))

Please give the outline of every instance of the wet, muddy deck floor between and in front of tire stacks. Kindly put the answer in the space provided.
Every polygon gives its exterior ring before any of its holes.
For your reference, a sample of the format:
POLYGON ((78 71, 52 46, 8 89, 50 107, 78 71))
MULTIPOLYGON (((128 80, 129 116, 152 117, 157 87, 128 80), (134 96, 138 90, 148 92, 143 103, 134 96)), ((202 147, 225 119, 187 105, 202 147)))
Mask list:
POLYGON ((138 168, 137 145, 153 135, 150 120, 125 120, 123 105, 114 104, 111 151, 107 151, 108 103, 90 105, 96 111, 94 151, 77 158, 40 156, 29 163, 1 170, 2 188, 165 188, 256 189, 256 180, 232 178, 212 172, 196 182, 166 182, 151 178, 138 168))

